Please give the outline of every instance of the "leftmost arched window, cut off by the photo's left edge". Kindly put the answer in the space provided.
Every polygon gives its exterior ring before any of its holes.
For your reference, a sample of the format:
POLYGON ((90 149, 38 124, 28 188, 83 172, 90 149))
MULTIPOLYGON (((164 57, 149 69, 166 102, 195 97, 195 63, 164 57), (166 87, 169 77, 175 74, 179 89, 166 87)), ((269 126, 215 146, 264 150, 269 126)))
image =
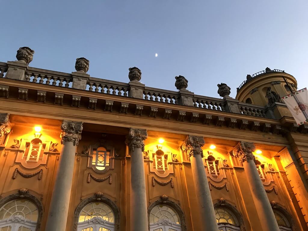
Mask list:
POLYGON ((34 231, 38 217, 38 209, 31 201, 9 201, 0 209, 0 231, 34 231))

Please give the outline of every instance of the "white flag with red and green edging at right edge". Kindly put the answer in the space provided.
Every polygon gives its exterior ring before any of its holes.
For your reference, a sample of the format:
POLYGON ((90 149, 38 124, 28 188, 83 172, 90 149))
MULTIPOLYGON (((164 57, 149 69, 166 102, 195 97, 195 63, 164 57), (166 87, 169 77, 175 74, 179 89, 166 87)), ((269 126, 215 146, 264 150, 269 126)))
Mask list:
POLYGON ((308 124, 307 88, 282 97, 298 125, 308 124))

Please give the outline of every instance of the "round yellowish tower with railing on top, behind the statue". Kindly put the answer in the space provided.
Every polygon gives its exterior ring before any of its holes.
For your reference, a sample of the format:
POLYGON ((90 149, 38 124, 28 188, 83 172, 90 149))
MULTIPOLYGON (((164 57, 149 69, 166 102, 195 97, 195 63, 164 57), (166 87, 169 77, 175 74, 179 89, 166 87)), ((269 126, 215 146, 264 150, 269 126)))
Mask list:
POLYGON ((297 81, 292 75, 266 67, 265 71, 247 75, 246 80, 237 88, 236 99, 260 106, 272 104, 273 101, 282 102, 280 97, 291 93, 284 78, 292 91, 297 91, 297 81))

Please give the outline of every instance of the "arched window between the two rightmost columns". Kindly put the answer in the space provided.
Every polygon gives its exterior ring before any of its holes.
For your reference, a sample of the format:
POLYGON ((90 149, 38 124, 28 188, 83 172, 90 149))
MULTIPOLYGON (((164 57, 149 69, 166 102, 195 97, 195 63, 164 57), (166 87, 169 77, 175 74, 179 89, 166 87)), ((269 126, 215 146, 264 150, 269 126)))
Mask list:
POLYGON ((240 231, 240 226, 233 213, 224 207, 215 208, 219 231, 240 231))

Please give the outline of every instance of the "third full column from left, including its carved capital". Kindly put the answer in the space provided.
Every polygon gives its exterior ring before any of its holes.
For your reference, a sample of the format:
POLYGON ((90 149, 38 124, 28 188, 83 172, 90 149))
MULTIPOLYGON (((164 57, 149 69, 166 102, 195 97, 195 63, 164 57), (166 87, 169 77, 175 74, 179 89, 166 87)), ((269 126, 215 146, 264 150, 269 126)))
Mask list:
POLYGON ((205 144, 202 136, 188 135, 182 145, 182 150, 190 156, 190 163, 193 172, 193 182, 198 201, 198 209, 201 215, 202 227, 200 231, 217 231, 217 221, 209 183, 206 177, 206 172, 203 164, 203 152, 201 147, 205 144))

